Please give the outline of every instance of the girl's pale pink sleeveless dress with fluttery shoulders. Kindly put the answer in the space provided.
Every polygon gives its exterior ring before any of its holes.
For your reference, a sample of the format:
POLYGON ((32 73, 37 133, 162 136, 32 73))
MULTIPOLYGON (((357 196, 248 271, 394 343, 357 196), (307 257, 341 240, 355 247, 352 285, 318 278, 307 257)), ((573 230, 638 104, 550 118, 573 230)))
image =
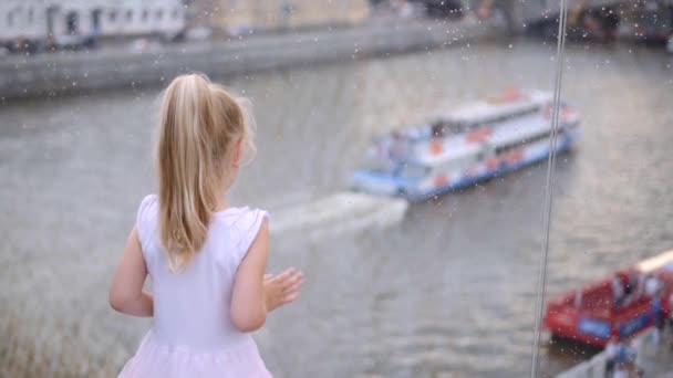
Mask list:
POLYGON ((238 264, 267 213, 216 212, 201 251, 179 273, 168 270, 158 238, 158 200, 145 197, 137 216, 154 290, 154 324, 120 377, 271 377, 250 334, 229 315, 238 264))

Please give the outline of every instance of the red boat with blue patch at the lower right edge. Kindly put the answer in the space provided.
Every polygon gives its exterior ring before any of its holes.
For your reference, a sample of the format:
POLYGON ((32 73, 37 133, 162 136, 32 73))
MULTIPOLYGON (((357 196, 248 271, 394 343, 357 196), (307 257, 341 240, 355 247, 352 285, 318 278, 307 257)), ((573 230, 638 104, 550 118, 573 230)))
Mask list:
POLYGON ((651 327, 653 301, 665 319, 673 305, 672 290, 673 251, 669 251, 551 298, 542 324, 552 336, 605 346, 612 336, 628 338, 651 327))

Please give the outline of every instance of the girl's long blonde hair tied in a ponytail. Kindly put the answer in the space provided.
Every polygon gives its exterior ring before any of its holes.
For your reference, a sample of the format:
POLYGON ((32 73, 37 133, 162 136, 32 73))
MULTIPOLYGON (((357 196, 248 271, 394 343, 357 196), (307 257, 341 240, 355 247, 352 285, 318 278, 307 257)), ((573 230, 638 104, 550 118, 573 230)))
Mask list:
POLYGON ((238 144, 253 151, 241 99, 204 74, 180 75, 163 93, 156 144, 159 234, 170 271, 203 248, 238 144))

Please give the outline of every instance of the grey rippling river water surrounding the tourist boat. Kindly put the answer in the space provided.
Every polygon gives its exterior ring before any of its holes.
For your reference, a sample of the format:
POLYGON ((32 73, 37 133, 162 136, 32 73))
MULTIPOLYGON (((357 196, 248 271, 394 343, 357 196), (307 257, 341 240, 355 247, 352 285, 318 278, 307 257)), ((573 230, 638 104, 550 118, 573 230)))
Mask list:
MULTIPOLYGON (((228 80, 252 98, 258 122, 259 153, 235 202, 270 209, 272 228, 275 209, 343 190, 371 136, 494 90, 550 90, 553 59, 553 45, 521 40, 228 80)), ((563 95, 584 136, 558 159, 550 294, 673 248, 671 59, 569 45, 566 60, 563 95)), ((0 355, 17 371, 32 361, 33 372, 114 374, 148 326, 113 314, 106 290, 153 190, 157 94, 0 107, 0 332, 12 340, 0 355)), ((298 266, 306 287, 258 334, 269 368, 280 377, 528 374, 545 174, 539 165, 414 204, 385 230, 275 234, 270 270, 298 266)), ((542 375, 586 356, 543 344, 542 375)))

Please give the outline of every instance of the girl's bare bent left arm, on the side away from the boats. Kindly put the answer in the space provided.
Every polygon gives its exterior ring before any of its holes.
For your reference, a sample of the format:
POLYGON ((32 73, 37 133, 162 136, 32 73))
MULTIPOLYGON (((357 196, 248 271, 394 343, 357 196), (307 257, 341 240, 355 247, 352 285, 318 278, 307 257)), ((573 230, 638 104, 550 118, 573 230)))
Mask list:
POLYGON ((147 266, 143 258, 138 231, 134 227, 110 287, 112 308, 134 316, 153 316, 154 298, 151 293, 143 291, 146 277, 147 266))

